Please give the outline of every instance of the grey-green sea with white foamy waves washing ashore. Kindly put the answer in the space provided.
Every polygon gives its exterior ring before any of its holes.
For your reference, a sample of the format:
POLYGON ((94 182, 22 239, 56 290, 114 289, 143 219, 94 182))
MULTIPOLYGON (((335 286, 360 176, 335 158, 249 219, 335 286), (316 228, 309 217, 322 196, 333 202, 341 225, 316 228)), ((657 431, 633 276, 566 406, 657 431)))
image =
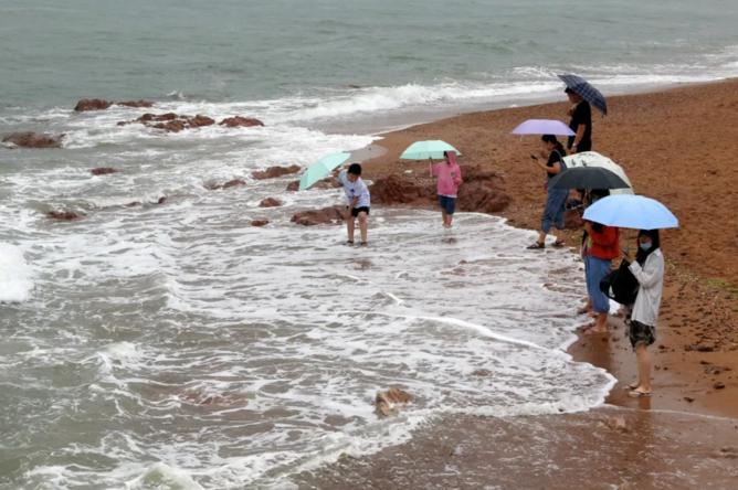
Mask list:
POLYGON ((449 414, 601 405, 614 379, 566 353, 572 254, 393 207, 348 247, 291 222, 340 190, 252 172, 560 100, 561 73, 605 95, 735 77, 737 21, 729 0, 0 0, 0 137, 64 135, 0 146, 0 488, 295 488, 449 414), (155 105, 73 110, 93 97, 155 105), (169 111, 264 126, 117 124, 169 111), (389 387, 413 400, 386 418, 389 387))

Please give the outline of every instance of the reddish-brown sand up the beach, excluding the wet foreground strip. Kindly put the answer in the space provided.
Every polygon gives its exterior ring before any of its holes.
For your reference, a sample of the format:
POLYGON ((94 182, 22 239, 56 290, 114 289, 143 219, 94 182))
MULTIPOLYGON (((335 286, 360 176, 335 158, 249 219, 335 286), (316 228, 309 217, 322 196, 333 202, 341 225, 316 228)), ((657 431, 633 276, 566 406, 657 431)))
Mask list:
MULTIPOLYGON (((646 405, 738 417, 738 81, 610 97, 608 103, 610 115, 594 116, 593 149, 619 162, 637 193, 662 201, 681 222, 679 230, 662 235, 667 276, 658 338, 651 349, 654 396, 646 405)), ((478 166, 503 177, 512 202, 496 214, 536 228, 544 175, 529 153, 540 143, 535 136, 509 132, 528 118, 566 121, 567 108, 562 102, 465 114, 384 135, 379 145, 388 151, 366 163, 366 175, 424 175, 426 162, 401 161, 399 155, 414 140, 443 139, 462 151, 462 169, 478 166)), ((576 248, 581 232, 568 235, 576 248)), ((623 244, 632 243, 632 232, 623 235, 623 244)), ((583 338, 571 352, 630 382, 634 355, 622 322, 613 320, 612 328, 609 338, 583 338)), ((623 396, 620 386, 608 402, 643 405, 623 396)))

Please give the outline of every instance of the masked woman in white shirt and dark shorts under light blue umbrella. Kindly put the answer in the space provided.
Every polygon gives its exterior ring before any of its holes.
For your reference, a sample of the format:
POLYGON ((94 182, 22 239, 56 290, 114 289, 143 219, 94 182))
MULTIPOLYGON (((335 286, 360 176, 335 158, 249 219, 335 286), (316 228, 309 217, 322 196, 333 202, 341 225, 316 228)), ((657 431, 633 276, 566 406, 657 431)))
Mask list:
MULTIPOLYGON (((664 255, 661 253, 658 230, 641 230, 637 241, 639 251, 630 269, 641 287, 628 321, 628 337, 639 365, 637 381, 628 385, 629 394, 634 397, 651 395, 651 356, 647 348, 656 340, 656 318, 664 289, 664 255)), ((625 259, 631 258, 628 253, 623 255, 625 259)))

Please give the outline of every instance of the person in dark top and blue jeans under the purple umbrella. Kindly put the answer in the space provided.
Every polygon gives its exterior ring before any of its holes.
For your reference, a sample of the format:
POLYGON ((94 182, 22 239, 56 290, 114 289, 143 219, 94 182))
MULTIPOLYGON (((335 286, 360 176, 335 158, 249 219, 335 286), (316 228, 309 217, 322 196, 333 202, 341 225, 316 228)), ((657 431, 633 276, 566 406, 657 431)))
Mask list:
MULTIPOLYGON (((551 225, 556 226, 557 230, 563 230, 563 212, 567 198, 569 196, 568 189, 554 189, 550 185, 550 180, 567 169, 567 166, 563 162, 563 156, 566 153, 563 146, 554 135, 544 135, 540 139, 544 145, 541 157, 547 157, 548 160, 546 163, 542 163, 535 155, 531 155, 530 157, 538 167, 546 171, 546 207, 544 209, 544 216, 541 217, 538 239, 533 245, 528 245, 528 249, 546 248, 546 235, 551 230, 551 225)), ((563 239, 557 235, 555 236, 556 242, 554 242, 554 246, 563 246, 563 239)))

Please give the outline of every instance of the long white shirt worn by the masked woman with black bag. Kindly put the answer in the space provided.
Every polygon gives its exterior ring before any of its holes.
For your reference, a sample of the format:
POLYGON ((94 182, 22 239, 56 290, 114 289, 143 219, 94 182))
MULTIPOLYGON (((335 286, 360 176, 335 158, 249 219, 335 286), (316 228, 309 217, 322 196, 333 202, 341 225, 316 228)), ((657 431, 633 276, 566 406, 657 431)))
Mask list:
POLYGON ((639 295, 635 297, 631 318, 641 323, 655 327, 656 319, 658 318, 661 295, 664 290, 664 255, 661 253, 661 248, 656 248, 649 254, 643 267, 633 260, 629 268, 641 285, 639 295))

